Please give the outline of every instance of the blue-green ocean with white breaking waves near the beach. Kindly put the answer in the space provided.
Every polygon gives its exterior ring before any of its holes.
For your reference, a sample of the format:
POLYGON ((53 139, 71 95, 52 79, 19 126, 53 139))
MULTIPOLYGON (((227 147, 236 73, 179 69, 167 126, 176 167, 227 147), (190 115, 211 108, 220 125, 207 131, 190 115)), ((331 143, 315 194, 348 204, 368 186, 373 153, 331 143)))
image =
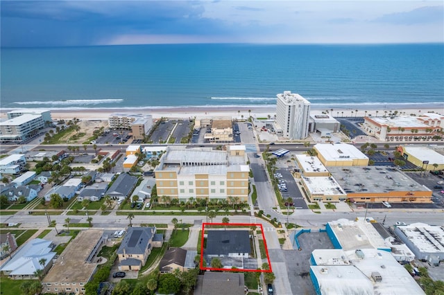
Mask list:
POLYGON ((444 106, 444 44, 1 48, 1 108, 444 106))

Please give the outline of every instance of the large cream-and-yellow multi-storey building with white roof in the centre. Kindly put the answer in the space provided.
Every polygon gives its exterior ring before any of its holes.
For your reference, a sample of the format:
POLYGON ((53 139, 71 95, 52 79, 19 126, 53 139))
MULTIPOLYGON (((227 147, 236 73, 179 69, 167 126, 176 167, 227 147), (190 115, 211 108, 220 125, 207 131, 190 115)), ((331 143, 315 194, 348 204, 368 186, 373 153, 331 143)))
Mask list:
POLYGON ((248 199, 248 172, 245 145, 228 145, 226 150, 211 147, 169 146, 155 168, 159 202, 162 196, 187 202, 198 199, 248 199))

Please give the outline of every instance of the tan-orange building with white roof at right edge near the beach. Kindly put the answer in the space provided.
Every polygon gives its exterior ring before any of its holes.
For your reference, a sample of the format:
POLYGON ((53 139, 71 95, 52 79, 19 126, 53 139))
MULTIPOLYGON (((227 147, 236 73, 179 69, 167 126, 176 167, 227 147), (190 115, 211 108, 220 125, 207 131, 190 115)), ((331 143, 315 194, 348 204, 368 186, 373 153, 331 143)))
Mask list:
POLYGON ((444 116, 365 117, 362 129, 379 141, 443 141, 444 116))

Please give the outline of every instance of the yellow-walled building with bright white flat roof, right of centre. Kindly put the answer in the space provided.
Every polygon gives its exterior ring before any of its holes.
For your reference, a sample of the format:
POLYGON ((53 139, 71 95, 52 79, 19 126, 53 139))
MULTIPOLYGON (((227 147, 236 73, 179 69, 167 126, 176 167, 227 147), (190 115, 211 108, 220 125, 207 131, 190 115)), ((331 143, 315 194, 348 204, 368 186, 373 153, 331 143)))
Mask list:
POLYGON ((368 157, 347 143, 318 143, 314 145, 318 158, 326 167, 368 166, 368 157))

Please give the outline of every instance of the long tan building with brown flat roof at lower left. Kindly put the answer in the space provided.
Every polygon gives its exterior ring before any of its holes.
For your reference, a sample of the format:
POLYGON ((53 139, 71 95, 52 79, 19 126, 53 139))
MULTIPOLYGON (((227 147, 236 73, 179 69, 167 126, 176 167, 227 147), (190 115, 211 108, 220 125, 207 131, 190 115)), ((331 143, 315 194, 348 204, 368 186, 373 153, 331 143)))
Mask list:
POLYGON ((85 293, 85 284, 92 279, 98 265, 94 257, 105 242, 102 230, 80 231, 42 280, 42 292, 85 293))

